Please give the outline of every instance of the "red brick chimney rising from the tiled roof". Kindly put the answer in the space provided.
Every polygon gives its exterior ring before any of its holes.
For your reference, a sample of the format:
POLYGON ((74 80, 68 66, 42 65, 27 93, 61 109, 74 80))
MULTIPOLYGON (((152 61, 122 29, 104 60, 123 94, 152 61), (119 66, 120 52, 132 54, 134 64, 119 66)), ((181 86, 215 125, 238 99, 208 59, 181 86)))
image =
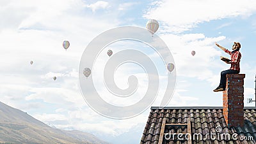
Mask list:
POLYGON ((244 77, 245 74, 227 75, 223 115, 228 127, 244 126, 244 77))

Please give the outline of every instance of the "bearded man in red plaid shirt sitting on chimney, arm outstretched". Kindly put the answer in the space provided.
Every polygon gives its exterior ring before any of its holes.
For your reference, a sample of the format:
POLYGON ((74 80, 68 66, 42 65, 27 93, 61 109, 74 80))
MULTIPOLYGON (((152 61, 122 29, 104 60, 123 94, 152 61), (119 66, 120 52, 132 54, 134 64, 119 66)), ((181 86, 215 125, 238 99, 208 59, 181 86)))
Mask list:
POLYGON ((218 43, 215 43, 215 45, 219 48, 221 48, 221 50, 223 50, 224 52, 227 52, 227 54, 231 55, 231 61, 227 62, 225 61, 227 64, 231 64, 230 69, 225 70, 225 71, 221 71, 221 78, 220 78, 220 85, 214 89, 214 92, 219 92, 219 91, 223 91, 226 89, 226 75, 227 74, 238 74, 240 73, 240 59, 241 59, 241 53, 239 52, 239 49, 241 48, 240 43, 234 42, 234 45, 232 47, 232 52, 230 52, 229 50, 227 50, 224 47, 221 47, 218 43))

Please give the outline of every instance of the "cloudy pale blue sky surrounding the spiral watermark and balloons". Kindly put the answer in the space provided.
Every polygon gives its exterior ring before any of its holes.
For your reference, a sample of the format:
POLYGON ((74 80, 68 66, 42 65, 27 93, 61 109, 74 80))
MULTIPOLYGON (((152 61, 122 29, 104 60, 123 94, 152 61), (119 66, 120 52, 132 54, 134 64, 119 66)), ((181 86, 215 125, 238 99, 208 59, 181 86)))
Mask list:
MULTIPOLYGON (((152 18, 159 22, 156 34, 175 61, 177 82, 168 106, 222 106, 222 92, 212 90, 220 82, 220 72, 230 65, 220 61, 220 56, 228 55, 214 43, 231 50, 234 41, 241 43, 241 73, 246 74, 244 106, 255 105, 246 99, 255 99, 256 1, 2 0, 0 17, 0 101, 50 126, 92 133, 111 143, 140 141, 150 109, 123 120, 99 115, 80 91, 79 64, 87 45, 100 33, 125 25, 145 27, 152 18), (65 40, 70 41, 67 50, 62 47, 65 40)), ((161 97, 166 87, 164 65, 150 47, 142 48, 147 46, 136 41, 113 43, 99 54, 99 70, 92 71, 99 94, 108 103, 129 105, 147 91, 145 71, 124 64, 116 70, 116 85, 125 89, 129 75, 134 75, 138 91, 125 101, 108 97, 100 68, 108 62, 108 48, 115 55, 124 47, 141 48, 155 62, 161 97)))

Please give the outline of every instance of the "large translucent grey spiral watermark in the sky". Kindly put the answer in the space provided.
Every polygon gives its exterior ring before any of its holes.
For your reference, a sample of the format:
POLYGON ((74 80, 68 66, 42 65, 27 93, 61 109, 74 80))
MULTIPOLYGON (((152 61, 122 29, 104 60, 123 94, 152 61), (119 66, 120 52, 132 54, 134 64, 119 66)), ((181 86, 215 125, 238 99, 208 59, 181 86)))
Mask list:
POLYGON ((115 52, 115 54, 113 53, 113 55, 109 57, 108 62, 106 62, 106 65, 104 66, 104 79, 102 82, 105 84, 108 91, 118 99, 129 97, 134 94, 138 88, 138 78, 136 76, 129 76, 127 80, 129 87, 127 89, 120 89, 116 85, 114 78, 116 69, 118 69, 120 65, 130 62, 140 66, 140 68, 143 68, 147 74, 147 92, 145 92, 145 95, 140 99, 140 101, 130 104, 129 106, 116 106, 115 104, 108 103, 102 99, 99 92, 97 92, 98 86, 93 83, 93 73, 95 72, 93 71, 93 68, 95 67, 95 61, 99 57, 100 52, 112 43, 116 43, 118 41, 136 41, 143 43, 154 50, 155 54, 159 56, 165 66, 167 66, 168 63, 172 63, 173 66, 175 66, 175 62, 169 48, 156 34, 152 35, 147 29, 134 26, 109 29, 95 37, 85 48, 81 57, 79 65, 79 86, 86 103, 95 112, 111 119, 128 119, 135 117, 147 110, 147 108, 149 108, 156 100, 159 92, 160 80, 158 71, 160 70, 166 71, 167 84, 159 108, 166 106, 172 98, 173 91, 175 89, 175 68, 172 73, 168 72, 166 68, 157 69, 156 63, 150 59, 150 55, 132 47, 115 52), (88 78, 85 78, 83 75, 84 68, 90 68, 92 71, 88 78))

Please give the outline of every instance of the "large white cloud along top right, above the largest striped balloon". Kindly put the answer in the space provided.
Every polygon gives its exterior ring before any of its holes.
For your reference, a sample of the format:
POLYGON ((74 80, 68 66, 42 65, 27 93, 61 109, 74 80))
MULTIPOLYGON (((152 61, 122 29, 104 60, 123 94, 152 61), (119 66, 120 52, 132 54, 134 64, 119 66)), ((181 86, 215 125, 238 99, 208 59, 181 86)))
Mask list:
POLYGON ((155 1, 145 18, 159 20, 164 31, 184 32, 202 22, 230 17, 248 17, 256 11, 256 1, 155 1))

